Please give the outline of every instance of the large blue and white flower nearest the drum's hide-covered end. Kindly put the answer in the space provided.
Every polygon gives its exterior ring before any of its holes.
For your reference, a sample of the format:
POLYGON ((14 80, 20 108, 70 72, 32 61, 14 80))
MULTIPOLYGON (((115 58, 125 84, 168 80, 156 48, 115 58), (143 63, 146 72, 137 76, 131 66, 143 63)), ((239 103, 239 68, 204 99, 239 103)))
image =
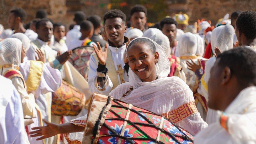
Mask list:
MULTIPOLYGON (((122 131, 122 128, 123 128, 123 125, 121 125, 120 127, 118 126, 118 124, 115 124, 115 127, 111 126, 111 129, 113 129, 118 135, 121 134, 121 131, 122 131)), ((125 129, 124 131, 124 137, 132 137, 133 135, 132 134, 129 134, 129 130, 130 129, 125 129)), ((113 135, 113 133, 111 131, 108 131, 108 134, 109 135, 113 135)), ((117 143, 117 140, 116 140, 117 137, 111 137, 108 139, 108 142, 111 142, 111 144, 116 144, 117 143)), ((125 143, 129 143, 128 141, 125 141, 125 143)))

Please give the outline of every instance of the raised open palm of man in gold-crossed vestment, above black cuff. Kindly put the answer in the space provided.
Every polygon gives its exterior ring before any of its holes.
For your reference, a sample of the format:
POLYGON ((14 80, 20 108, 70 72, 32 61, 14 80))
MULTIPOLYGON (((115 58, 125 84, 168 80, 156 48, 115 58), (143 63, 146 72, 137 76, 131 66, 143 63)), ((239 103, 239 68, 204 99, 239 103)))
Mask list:
POLYGON ((102 51, 99 42, 96 42, 96 44, 98 45, 98 48, 97 48, 97 46, 95 44, 93 44, 93 49, 94 49, 94 51, 95 51, 95 53, 97 55, 99 63, 101 65, 106 65, 108 44, 105 44, 105 50, 104 51, 102 51))

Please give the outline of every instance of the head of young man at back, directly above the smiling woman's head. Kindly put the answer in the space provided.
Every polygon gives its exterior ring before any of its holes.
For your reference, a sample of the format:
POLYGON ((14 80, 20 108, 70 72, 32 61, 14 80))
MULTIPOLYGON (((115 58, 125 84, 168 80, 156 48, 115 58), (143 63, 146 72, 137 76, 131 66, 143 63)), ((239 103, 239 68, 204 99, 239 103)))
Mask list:
POLYGON ((147 30, 147 8, 140 4, 137 4, 132 7, 130 15, 131 27, 127 29, 127 32, 133 28, 136 28, 144 33, 144 31, 147 30))

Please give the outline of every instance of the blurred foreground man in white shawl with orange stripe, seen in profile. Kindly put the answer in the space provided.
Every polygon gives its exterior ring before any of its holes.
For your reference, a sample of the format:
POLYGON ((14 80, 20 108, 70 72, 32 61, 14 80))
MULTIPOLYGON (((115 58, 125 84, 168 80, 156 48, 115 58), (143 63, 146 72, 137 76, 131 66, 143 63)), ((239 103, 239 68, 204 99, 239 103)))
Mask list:
POLYGON ((239 47, 217 56, 209 79, 208 106, 220 110, 194 143, 256 142, 256 55, 239 47))

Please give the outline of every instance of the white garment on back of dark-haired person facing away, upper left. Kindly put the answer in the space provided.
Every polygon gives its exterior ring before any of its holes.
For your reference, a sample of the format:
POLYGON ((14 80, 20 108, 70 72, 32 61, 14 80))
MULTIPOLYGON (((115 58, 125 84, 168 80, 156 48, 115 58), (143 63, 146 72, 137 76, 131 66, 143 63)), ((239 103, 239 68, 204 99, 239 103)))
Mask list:
POLYGON ((69 46, 70 42, 72 40, 77 40, 82 36, 82 33, 80 32, 80 25, 74 25, 73 29, 69 30, 67 32, 67 40, 66 40, 66 44, 67 46, 69 46))

